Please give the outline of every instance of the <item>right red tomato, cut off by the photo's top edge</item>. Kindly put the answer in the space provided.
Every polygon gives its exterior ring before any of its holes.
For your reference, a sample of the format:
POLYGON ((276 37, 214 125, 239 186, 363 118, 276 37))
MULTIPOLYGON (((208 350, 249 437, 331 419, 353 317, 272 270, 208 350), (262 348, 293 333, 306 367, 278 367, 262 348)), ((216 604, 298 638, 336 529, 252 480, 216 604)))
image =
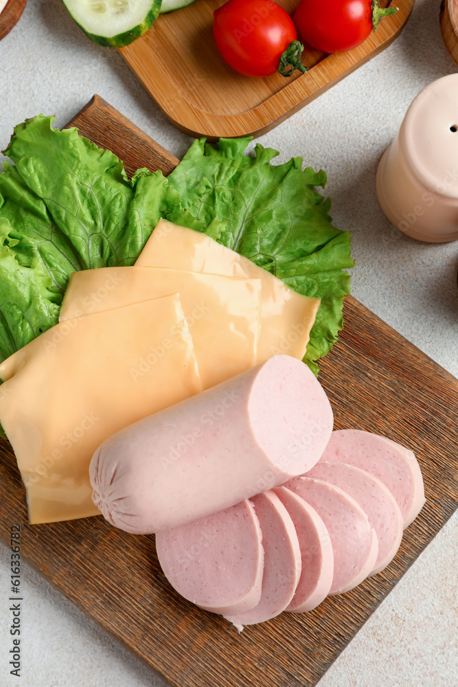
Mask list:
POLYGON ((366 40, 382 16, 393 14, 396 8, 374 12, 372 0, 301 0, 293 14, 301 38, 323 52, 345 52, 366 40))

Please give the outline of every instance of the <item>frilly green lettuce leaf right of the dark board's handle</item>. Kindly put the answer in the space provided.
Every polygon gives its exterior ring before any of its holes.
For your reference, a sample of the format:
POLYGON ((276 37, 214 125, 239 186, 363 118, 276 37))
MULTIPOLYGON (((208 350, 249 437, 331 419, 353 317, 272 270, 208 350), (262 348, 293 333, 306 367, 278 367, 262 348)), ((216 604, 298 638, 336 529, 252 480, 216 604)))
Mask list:
MULTIPOLYGON (((168 177, 181 205, 205 227, 222 223, 219 243, 264 267, 292 289, 321 298, 304 361, 328 353, 343 327, 342 306, 350 293, 353 267, 350 234, 332 226, 325 172, 302 170, 302 158, 274 166, 276 150, 255 147, 245 155, 250 138, 220 139, 216 146, 196 140, 168 177)), ((207 229, 203 229, 207 232, 207 229)))

